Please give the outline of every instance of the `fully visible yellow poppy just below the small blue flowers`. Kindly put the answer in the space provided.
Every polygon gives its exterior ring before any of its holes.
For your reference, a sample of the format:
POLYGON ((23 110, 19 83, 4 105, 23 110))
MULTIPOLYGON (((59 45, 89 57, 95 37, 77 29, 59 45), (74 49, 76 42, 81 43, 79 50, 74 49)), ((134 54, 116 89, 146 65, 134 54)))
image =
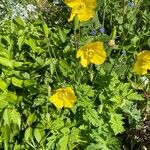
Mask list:
POLYGON ((96 65, 104 63, 106 52, 102 42, 87 43, 77 51, 77 58, 81 57, 81 65, 87 67, 90 63, 96 65))

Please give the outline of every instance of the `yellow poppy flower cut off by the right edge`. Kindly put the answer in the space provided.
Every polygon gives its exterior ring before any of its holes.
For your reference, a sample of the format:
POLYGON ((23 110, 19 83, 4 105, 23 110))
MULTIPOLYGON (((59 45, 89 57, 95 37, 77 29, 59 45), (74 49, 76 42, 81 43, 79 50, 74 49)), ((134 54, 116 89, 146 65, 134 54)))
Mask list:
POLYGON ((150 51, 144 50, 137 56, 134 72, 138 75, 144 75, 147 74, 148 70, 150 70, 150 51))

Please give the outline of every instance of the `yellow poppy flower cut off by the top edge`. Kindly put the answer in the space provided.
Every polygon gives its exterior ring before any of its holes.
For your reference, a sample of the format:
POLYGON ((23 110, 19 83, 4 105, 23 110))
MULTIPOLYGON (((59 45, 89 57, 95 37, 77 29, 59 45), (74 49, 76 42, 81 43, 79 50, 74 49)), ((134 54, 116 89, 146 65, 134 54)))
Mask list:
POLYGON ((94 16, 96 0, 65 0, 65 3, 72 8, 68 21, 72 21, 76 15, 81 22, 94 16))

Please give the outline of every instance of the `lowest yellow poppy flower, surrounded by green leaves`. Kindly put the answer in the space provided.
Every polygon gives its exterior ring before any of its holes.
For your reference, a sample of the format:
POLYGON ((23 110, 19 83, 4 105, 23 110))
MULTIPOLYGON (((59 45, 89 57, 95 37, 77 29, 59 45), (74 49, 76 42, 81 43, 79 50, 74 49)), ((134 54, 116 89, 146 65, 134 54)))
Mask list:
POLYGON ((57 108, 67 107, 71 108, 75 101, 76 96, 70 87, 59 88, 56 93, 49 98, 57 108))

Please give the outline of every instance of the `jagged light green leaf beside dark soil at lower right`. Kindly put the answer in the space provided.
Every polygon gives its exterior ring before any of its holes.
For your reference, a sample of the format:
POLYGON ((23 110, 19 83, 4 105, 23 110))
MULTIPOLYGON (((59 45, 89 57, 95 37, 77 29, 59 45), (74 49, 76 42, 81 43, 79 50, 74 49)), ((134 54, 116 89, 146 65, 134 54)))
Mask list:
POLYGON ((122 133, 125 129, 123 127, 123 117, 121 114, 111 113, 110 114, 110 123, 111 128, 113 129, 115 135, 122 133))

